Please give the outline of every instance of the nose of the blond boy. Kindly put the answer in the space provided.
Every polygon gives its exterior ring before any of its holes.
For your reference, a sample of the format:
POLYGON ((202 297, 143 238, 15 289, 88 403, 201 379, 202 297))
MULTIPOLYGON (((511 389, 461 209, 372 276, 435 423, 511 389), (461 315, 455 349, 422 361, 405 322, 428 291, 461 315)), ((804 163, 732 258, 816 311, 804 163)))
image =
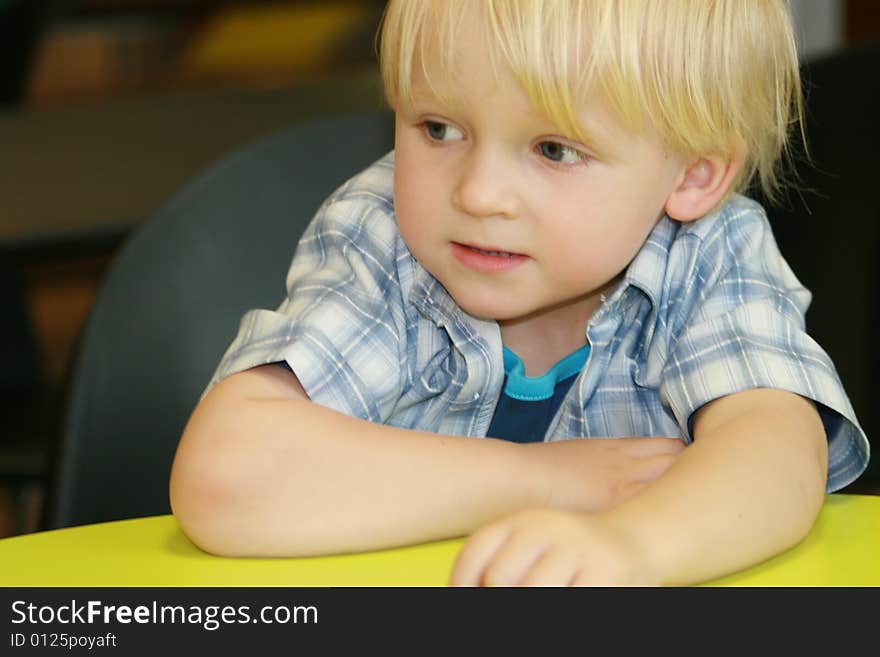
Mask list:
POLYGON ((452 192, 455 208, 471 217, 512 219, 517 212, 517 195, 512 163, 500 153, 475 149, 467 156, 452 192))

